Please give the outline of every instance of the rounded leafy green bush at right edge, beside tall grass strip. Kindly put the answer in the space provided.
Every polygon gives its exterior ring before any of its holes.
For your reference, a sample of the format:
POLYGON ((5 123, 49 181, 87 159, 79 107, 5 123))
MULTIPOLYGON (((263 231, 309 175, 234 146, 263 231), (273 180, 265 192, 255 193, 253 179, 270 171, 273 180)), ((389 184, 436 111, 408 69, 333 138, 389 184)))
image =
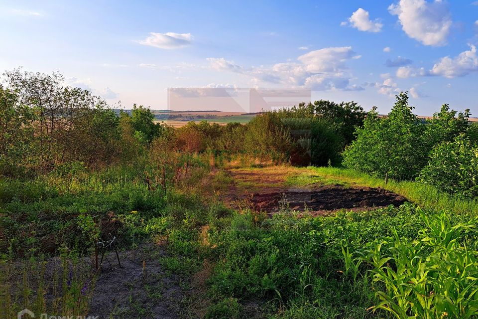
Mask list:
POLYGON ((478 144, 465 135, 439 144, 418 180, 450 193, 478 196, 478 144))

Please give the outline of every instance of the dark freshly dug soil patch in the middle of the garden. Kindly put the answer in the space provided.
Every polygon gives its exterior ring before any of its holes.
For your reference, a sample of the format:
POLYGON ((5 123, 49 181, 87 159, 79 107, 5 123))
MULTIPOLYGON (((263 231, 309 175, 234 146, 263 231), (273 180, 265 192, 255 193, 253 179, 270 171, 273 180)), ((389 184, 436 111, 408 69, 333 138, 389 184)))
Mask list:
POLYGON ((281 208, 294 211, 328 212, 339 209, 360 210, 388 205, 400 206, 407 199, 382 188, 345 188, 323 186, 314 190, 283 191, 253 194, 252 204, 256 210, 274 213, 281 208))

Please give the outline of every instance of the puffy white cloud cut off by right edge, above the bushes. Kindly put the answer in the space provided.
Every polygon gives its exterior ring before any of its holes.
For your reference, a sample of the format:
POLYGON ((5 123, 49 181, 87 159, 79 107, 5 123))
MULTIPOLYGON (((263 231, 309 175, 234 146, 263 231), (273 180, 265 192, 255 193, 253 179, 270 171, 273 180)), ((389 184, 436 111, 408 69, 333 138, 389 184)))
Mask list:
POLYGON ((457 57, 446 56, 436 63, 430 73, 447 78, 464 76, 478 71, 477 47, 470 44, 470 50, 460 53, 457 57))

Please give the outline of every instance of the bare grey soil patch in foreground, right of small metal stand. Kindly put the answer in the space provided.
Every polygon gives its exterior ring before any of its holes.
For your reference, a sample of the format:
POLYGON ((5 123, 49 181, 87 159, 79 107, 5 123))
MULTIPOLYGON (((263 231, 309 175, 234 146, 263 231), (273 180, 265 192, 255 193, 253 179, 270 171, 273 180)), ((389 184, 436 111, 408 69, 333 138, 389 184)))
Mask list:
POLYGON ((164 249, 152 246, 121 252, 121 268, 114 253, 108 256, 113 268, 103 262, 90 303, 91 316, 99 316, 99 319, 179 317, 183 299, 179 279, 159 265, 158 258, 165 256, 164 249))

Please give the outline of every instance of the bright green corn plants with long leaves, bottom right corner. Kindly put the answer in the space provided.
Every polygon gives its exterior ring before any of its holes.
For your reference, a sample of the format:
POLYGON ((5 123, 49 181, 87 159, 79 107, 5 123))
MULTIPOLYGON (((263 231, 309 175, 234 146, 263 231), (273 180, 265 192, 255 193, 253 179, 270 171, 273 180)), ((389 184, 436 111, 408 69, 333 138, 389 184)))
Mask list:
POLYGON ((474 218, 452 225, 446 213, 426 216, 417 239, 393 237, 363 258, 373 266, 379 303, 395 318, 472 318, 478 313, 478 259, 467 239, 478 234, 474 218))

